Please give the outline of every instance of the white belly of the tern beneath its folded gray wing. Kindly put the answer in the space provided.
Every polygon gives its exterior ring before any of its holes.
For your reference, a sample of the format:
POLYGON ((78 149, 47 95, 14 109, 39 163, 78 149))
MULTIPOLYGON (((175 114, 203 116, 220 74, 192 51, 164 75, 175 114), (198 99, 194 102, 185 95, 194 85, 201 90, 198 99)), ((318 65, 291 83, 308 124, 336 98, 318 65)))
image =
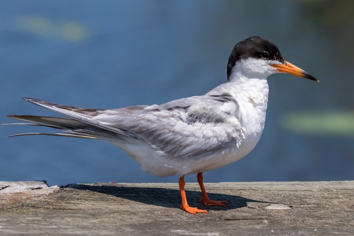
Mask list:
POLYGON ((248 154, 256 146, 261 132, 256 136, 245 133, 245 139, 237 148, 236 144, 224 150, 212 152, 205 156, 173 157, 161 156, 149 144, 134 140, 135 143, 110 142, 119 146, 141 166, 142 170, 152 175, 165 177, 169 175, 194 174, 217 169, 235 162, 248 154))

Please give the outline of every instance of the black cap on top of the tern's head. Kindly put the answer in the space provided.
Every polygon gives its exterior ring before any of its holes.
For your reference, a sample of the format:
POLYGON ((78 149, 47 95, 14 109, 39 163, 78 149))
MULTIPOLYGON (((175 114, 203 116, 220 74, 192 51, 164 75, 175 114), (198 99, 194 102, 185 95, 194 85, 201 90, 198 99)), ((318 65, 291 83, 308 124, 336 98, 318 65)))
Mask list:
POLYGON ((238 42, 229 57, 227 63, 227 79, 231 75, 232 68, 240 59, 257 58, 265 60, 276 60, 285 63, 285 59, 275 44, 258 36, 253 36, 248 39, 238 42))

